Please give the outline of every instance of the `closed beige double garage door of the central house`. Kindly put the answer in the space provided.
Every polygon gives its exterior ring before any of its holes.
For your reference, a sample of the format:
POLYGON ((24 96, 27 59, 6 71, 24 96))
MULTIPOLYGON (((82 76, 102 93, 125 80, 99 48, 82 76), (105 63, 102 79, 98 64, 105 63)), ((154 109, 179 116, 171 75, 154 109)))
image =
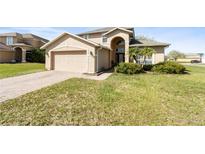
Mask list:
POLYGON ((86 73, 88 58, 86 51, 66 51, 54 53, 54 70, 86 73))

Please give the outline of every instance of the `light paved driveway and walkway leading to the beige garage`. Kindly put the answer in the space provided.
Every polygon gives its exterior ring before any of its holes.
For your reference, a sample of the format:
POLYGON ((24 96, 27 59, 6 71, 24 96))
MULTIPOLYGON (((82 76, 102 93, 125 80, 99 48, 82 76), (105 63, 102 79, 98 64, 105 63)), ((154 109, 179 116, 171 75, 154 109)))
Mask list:
POLYGON ((46 71, 10 77, 0 80, 0 102, 13 99, 26 93, 47 87, 49 85, 70 79, 86 78, 92 80, 105 80, 112 73, 103 73, 100 76, 89 76, 78 73, 46 71))

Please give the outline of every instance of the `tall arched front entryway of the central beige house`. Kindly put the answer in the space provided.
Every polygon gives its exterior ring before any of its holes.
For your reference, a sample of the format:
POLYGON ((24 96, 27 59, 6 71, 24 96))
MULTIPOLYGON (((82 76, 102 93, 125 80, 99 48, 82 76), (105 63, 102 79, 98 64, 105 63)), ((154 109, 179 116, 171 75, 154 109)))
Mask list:
POLYGON ((125 62, 125 40, 121 37, 115 37, 111 41, 112 64, 125 62))

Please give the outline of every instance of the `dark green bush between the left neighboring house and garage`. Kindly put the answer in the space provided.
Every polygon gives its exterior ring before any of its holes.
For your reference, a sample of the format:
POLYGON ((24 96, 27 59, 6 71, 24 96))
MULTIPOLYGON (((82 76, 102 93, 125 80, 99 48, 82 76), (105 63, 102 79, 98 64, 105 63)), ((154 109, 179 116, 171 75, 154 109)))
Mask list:
POLYGON ((31 52, 26 54, 26 61, 45 63, 45 50, 41 50, 41 49, 32 50, 31 52))

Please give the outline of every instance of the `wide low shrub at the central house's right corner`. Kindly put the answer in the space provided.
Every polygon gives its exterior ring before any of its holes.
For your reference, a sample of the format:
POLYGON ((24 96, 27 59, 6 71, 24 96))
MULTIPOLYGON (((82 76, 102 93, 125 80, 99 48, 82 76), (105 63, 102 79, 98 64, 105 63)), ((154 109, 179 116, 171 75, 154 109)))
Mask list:
POLYGON ((184 74, 186 72, 186 68, 176 62, 168 61, 154 65, 152 71, 167 74, 184 74))

